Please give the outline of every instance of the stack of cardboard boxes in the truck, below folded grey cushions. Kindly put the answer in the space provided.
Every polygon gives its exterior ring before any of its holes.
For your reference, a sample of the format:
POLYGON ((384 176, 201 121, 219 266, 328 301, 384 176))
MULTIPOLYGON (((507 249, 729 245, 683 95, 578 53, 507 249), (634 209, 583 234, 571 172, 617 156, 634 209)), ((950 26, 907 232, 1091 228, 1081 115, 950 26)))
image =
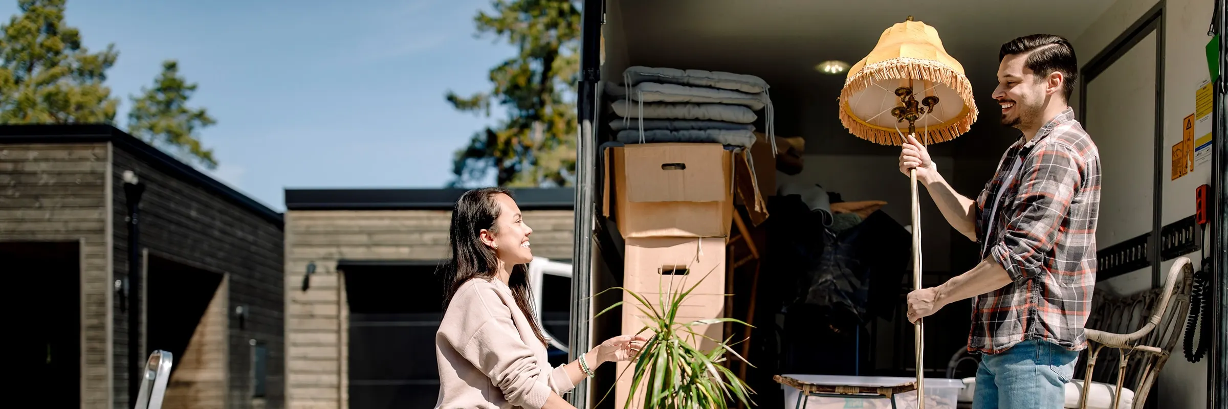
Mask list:
MULTIPOLYGON (((605 150, 604 215, 626 241, 624 286, 661 310, 672 292, 699 285, 684 300, 675 322, 725 317, 726 241, 733 221, 734 161, 721 144, 639 144, 605 150), (662 295, 666 300, 662 300, 662 295)), ((624 295, 623 333, 648 325, 624 295)), ((721 324, 695 327, 722 339, 721 324)), ((696 338, 709 350, 715 343, 696 338)), ((618 365, 615 402, 626 402, 631 371, 618 365)), ((637 399, 639 400, 639 399, 637 399)))

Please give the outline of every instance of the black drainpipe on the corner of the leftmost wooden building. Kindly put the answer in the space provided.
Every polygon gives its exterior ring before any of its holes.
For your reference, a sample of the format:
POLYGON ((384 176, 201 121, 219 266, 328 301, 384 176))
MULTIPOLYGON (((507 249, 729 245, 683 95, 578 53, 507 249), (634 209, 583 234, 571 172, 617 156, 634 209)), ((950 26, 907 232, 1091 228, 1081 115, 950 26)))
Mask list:
POLYGON ((141 377, 145 368, 141 351, 141 312, 145 311, 145 297, 141 296, 144 281, 141 275, 140 251, 140 203, 145 184, 125 182, 124 197, 128 199, 128 403, 136 403, 140 394, 141 377))

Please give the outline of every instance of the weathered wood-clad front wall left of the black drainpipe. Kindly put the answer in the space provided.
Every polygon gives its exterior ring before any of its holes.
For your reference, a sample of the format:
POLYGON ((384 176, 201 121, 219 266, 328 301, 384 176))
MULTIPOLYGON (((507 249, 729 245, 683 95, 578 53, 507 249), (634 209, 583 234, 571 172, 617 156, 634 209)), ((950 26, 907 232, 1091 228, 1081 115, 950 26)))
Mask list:
POLYGON ((109 172, 104 142, 0 145, 0 241, 82 243, 82 408, 112 402, 109 172))

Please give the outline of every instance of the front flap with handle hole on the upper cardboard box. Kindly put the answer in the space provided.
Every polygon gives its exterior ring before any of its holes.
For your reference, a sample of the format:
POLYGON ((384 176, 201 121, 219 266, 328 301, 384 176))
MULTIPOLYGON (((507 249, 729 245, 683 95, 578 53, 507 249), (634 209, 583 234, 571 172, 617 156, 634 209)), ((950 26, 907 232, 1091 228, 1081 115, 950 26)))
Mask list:
POLYGON ((721 144, 628 145, 623 156, 629 201, 721 201, 728 194, 720 183, 721 144))

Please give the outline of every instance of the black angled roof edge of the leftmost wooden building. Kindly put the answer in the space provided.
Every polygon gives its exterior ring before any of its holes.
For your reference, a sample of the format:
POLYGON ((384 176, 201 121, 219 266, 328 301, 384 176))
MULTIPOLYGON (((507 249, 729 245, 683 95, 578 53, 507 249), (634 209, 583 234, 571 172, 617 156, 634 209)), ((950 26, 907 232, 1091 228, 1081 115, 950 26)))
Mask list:
POLYGON ((136 139, 119 128, 106 124, 70 125, 0 125, 0 144, 88 144, 112 142, 157 167, 172 177, 194 183, 271 224, 284 226, 281 212, 274 211, 251 197, 136 139))

